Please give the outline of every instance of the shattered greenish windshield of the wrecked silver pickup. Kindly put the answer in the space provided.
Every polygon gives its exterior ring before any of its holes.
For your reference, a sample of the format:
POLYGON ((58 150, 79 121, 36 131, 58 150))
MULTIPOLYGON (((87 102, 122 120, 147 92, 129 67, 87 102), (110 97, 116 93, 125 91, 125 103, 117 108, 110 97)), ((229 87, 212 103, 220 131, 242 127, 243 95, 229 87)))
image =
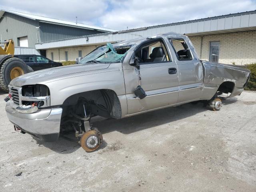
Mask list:
POLYGON ((111 43, 101 46, 82 58, 79 64, 82 63, 118 63, 126 56, 127 50, 124 54, 118 54, 111 43))

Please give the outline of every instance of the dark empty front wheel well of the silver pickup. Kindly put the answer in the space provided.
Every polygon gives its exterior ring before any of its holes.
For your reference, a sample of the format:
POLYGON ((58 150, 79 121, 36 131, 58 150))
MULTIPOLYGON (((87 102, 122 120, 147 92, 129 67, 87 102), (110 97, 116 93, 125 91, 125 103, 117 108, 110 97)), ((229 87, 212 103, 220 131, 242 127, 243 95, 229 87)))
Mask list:
POLYGON ((68 97, 62 104, 62 116, 70 111, 75 114, 102 116, 106 118, 120 119, 122 115, 120 101, 113 90, 100 89, 74 94, 68 97))

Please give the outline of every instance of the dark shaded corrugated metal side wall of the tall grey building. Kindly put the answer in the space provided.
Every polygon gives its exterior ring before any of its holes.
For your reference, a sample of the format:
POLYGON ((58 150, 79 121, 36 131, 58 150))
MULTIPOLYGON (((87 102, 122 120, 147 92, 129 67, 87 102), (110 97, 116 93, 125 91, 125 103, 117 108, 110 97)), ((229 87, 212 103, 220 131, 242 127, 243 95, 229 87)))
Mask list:
POLYGON ((100 34, 102 32, 96 30, 88 30, 82 28, 74 28, 62 25, 54 25, 39 22, 40 25, 40 42, 60 40, 84 35, 100 34))

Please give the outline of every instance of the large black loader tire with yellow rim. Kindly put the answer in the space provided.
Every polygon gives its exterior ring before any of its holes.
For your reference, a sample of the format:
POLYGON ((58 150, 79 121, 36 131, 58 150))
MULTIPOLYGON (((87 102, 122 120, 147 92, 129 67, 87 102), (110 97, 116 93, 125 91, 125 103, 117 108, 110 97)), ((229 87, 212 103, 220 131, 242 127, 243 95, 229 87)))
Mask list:
POLYGON ((9 91, 8 85, 12 79, 29 73, 24 61, 19 58, 8 58, 0 64, 0 88, 5 92, 9 91))

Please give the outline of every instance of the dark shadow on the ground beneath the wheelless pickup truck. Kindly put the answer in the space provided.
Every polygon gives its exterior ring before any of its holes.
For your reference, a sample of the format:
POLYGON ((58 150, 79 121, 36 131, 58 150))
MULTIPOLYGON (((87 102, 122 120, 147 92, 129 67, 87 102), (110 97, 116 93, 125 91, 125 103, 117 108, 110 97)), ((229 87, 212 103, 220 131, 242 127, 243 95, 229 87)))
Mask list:
MULTIPOLYGON (((224 105, 233 104, 237 101, 237 98, 229 98, 223 100, 224 105)), ((197 104, 184 104, 176 107, 165 108, 161 110, 156 110, 153 112, 148 112, 145 114, 140 114, 123 119, 105 119, 105 118, 92 118, 93 127, 98 128, 103 134, 118 131, 123 134, 130 134, 133 132, 138 132, 140 130, 145 130, 152 128, 154 126, 160 126, 162 124, 172 123, 176 120, 184 119, 189 116, 193 116, 197 113, 210 110, 203 103, 197 104)), ((203 114, 202 114, 203 115, 203 114)), ((74 133, 60 137, 57 142, 41 142, 37 140, 39 146, 43 145, 59 154, 69 154, 80 148, 74 133)), ((105 148, 108 144, 104 141, 100 149, 105 148)))

